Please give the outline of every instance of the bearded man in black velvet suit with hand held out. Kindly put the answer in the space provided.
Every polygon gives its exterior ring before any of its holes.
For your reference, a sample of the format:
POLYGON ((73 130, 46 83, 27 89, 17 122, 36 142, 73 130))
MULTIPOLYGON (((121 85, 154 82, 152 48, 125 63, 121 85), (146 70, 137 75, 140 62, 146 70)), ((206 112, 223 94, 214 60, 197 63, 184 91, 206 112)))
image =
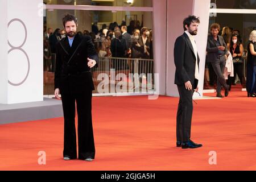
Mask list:
POLYGON ((77 158, 75 102, 78 115, 79 159, 92 161, 95 156, 92 127, 92 90, 90 68, 97 66, 98 55, 90 36, 76 34, 77 18, 65 15, 67 36, 56 44, 55 96, 64 113, 64 160, 77 158), (60 98, 59 98, 60 99, 60 98))

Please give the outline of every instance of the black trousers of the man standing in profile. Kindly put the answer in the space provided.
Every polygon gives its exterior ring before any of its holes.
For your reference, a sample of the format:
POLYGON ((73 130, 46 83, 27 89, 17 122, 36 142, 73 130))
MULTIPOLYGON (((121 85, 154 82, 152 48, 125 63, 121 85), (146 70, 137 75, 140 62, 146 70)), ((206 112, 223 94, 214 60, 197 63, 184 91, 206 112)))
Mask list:
POLYGON ((177 85, 180 100, 176 118, 177 141, 187 142, 191 138, 191 120, 193 113, 193 89, 185 89, 185 85, 177 85))

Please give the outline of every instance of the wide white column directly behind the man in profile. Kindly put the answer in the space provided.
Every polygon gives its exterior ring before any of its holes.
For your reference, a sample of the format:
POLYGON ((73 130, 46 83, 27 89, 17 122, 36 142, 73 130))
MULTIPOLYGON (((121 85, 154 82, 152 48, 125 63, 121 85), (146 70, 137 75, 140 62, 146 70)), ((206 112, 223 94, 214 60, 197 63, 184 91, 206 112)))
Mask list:
MULTIPOLYGON (((174 43, 178 36, 184 33, 183 20, 188 15, 200 17, 199 32, 196 36, 197 49, 200 56, 199 92, 203 96, 205 50, 209 23, 210 0, 172 0, 168 1, 167 15, 167 96, 179 97, 177 86, 174 84, 174 43)), ((196 94, 195 94, 196 96, 196 94)))

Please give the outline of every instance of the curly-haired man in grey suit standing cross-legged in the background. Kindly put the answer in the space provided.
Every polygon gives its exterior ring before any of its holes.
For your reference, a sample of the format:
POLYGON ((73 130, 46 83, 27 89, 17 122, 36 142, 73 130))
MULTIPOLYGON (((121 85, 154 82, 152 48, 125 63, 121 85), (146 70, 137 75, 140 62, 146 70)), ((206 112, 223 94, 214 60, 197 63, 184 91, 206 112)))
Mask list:
POLYGON ((207 40, 207 61, 212 64, 214 72, 217 75, 217 96, 224 97, 221 95, 221 86, 225 89, 225 97, 228 97, 229 86, 226 84, 226 80, 223 76, 226 59, 228 57, 228 48, 222 36, 218 35, 220 32, 220 25, 213 23, 210 26, 211 35, 208 36, 207 40))

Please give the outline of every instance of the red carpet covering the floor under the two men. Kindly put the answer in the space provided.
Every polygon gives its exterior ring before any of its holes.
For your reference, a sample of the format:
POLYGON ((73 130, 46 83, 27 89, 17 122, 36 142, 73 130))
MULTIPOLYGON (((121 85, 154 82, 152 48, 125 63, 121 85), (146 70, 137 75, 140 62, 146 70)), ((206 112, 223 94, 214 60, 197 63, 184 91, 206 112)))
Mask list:
MULTIPOLYGON (((214 95, 214 94, 209 94, 214 95)), ((63 118, 0 125, 0 170, 255 170, 256 98, 231 92, 197 100, 192 140, 202 148, 176 148, 178 98, 94 97, 96 160, 65 162, 63 118), (38 152, 46 152, 46 165, 38 152), (209 152, 217 152, 210 165, 209 152)))

